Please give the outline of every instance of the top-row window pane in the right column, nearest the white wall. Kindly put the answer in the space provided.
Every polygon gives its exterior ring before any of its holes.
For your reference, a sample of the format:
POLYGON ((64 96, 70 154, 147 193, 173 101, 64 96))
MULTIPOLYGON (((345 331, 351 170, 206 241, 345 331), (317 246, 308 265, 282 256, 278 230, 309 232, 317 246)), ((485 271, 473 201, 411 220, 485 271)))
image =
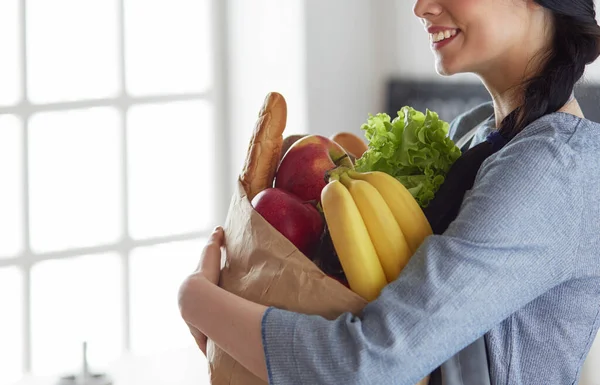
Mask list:
POLYGON ((209 0, 126 0, 127 89, 204 91, 211 78, 209 0))

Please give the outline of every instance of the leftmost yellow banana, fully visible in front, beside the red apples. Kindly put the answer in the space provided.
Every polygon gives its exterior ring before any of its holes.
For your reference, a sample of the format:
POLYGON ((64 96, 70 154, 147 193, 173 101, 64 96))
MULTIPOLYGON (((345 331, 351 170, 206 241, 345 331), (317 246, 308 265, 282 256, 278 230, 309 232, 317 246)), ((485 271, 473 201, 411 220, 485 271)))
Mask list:
POLYGON ((321 191, 321 206, 350 289, 367 301, 374 300, 387 280, 352 195, 332 179, 321 191))

